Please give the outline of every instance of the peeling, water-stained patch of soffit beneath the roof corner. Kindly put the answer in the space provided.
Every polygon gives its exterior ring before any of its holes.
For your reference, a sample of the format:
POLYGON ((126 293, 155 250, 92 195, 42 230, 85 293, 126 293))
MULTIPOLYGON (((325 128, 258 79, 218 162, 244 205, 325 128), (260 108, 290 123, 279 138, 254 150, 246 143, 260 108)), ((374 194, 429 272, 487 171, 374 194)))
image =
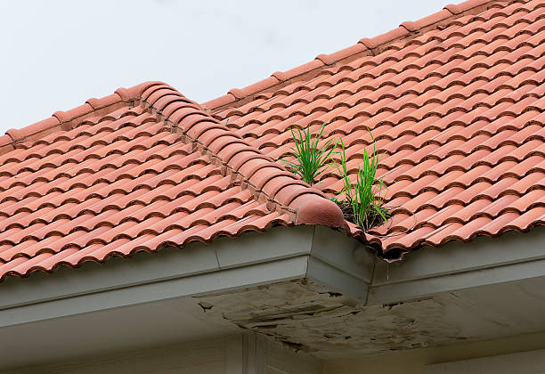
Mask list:
POLYGON ((196 297, 210 321, 224 319, 322 358, 382 354, 460 341, 434 298, 364 306, 311 280, 196 297), (425 318, 423 318, 425 317, 425 318))

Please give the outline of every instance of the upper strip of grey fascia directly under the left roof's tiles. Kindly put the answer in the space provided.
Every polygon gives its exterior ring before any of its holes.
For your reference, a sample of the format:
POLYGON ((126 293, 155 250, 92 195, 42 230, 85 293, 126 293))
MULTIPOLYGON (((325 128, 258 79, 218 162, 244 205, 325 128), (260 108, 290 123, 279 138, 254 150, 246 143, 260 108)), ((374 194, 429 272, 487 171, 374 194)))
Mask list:
POLYGON ((8 278, 0 283, 0 310, 308 255, 313 228, 297 229, 248 232, 237 239, 194 242, 182 249, 163 248, 153 255, 138 253, 131 258, 111 258, 104 264, 89 262, 77 270, 61 267, 51 274, 33 273, 28 279, 8 278), (259 240, 262 236, 268 240, 259 240), (239 252, 248 256, 237 262, 232 257, 239 252))

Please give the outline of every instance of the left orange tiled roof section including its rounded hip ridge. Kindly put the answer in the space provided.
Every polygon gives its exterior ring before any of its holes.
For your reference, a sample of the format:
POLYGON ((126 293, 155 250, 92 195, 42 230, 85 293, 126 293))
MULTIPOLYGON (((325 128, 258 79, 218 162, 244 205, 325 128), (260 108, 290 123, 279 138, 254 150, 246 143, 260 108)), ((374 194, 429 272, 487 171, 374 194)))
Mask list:
POLYGON ((320 191, 161 83, 0 141, 2 280, 274 224, 344 225, 320 191))

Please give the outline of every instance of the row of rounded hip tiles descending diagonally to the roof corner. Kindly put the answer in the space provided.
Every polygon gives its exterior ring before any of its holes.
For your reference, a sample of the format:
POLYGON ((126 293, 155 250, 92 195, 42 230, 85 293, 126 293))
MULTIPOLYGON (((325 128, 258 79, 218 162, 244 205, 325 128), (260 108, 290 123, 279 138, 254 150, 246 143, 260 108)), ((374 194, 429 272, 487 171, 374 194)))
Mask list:
POLYGON ((261 150, 252 147, 216 118, 212 118, 204 109, 196 109, 195 105, 199 104, 187 99, 182 93, 167 84, 149 82, 135 87, 120 89, 120 93, 126 100, 134 102, 134 105, 140 105, 143 109, 154 112, 160 117, 163 117, 163 113, 167 112, 168 115, 164 116, 163 120, 171 125, 171 131, 183 134, 186 142, 191 142, 194 148, 202 154, 215 158, 221 163, 225 173, 228 172, 233 178, 239 177, 240 183, 254 192, 256 200, 263 199, 260 198, 260 195, 264 195, 264 199, 273 205, 278 205, 277 208, 295 213, 295 224, 321 224, 346 228, 344 215, 337 204, 325 198, 321 191, 300 181, 294 175, 287 172, 282 173, 284 169, 273 159, 264 155, 261 150), (165 90, 165 93, 156 94, 161 90, 165 90), (181 100, 168 102, 162 110, 158 110, 153 105, 165 95, 176 95, 181 100), (192 131, 198 125, 201 125, 201 128, 197 132, 192 131), (212 139, 207 136, 208 131, 215 132, 212 139), (213 144, 220 137, 232 137, 232 141, 220 143, 219 148, 216 148, 213 144), (243 153, 248 153, 248 155, 243 155, 243 153), (237 159, 235 162, 234 159, 237 155, 240 155, 241 159, 237 159), (250 162, 252 167, 247 174, 247 169, 244 166, 250 162), (273 168, 277 173, 269 175, 270 178, 266 181, 257 178, 257 170, 261 171, 267 167, 273 168), (276 178, 285 178, 285 180, 275 186, 272 193, 267 193, 264 190, 265 184, 276 178), (289 193, 287 193, 288 190, 289 193))

